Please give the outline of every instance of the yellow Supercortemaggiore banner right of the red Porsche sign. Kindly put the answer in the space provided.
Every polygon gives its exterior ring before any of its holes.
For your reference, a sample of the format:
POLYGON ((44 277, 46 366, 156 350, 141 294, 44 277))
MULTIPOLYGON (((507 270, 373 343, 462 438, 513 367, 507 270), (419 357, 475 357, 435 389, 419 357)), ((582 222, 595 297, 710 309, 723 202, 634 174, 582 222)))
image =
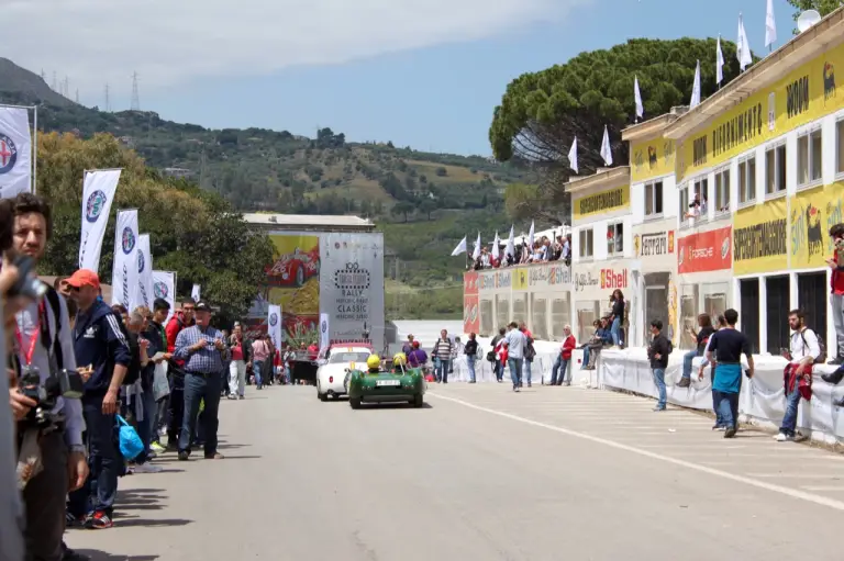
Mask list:
POLYGON ((788 269, 786 200, 742 209, 733 220, 733 272, 736 276, 788 269))

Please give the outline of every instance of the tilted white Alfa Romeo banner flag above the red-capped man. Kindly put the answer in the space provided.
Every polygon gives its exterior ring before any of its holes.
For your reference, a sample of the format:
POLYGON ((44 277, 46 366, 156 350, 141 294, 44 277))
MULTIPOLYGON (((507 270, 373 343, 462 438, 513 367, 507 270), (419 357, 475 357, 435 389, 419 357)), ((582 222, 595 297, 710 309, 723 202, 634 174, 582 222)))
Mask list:
POLYGON ((79 268, 100 270, 100 253, 111 202, 120 181, 119 169, 86 171, 82 180, 82 237, 79 242, 79 268))

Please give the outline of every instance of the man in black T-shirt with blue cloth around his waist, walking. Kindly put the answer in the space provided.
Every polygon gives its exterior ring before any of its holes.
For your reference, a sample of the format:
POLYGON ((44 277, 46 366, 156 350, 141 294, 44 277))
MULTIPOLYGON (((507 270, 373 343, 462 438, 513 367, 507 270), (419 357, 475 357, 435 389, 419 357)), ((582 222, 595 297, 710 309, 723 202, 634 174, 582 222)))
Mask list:
POLYGON ((749 370, 747 375, 753 378, 754 364, 751 355, 751 344, 745 335, 735 328, 738 312, 724 312, 726 327, 715 332, 709 339, 707 360, 718 362, 712 389, 717 392, 718 411, 725 428, 724 438, 733 438, 738 426, 738 392, 742 389, 742 354, 747 357, 749 370))

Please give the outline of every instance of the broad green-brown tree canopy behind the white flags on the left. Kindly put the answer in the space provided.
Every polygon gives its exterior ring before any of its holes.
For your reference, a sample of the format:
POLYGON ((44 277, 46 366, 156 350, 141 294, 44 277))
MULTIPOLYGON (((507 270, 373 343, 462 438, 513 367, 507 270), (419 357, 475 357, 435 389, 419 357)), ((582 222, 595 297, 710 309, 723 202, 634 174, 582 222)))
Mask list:
POLYGON ((219 305, 223 322, 245 315, 273 245, 252 232, 243 216, 219 195, 193 183, 165 179, 110 134, 82 141, 73 134, 38 135, 37 192, 53 210, 53 237, 40 272, 69 274, 77 266, 81 222, 82 173, 86 169, 122 168, 103 240, 99 273, 110 282, 115 216, 137 209, 142 233, 149 233, 154 267, 177 273, 177 294, 202 294, 219 305))

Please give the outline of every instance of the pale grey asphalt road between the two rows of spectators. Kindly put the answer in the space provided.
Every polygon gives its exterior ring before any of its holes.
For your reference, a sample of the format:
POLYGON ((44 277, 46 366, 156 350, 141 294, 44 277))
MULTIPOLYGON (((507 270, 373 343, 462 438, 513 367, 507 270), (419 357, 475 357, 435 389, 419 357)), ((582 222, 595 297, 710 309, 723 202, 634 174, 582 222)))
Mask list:
POLYGON ((644 399, 435 386, 352 411, 313 388, 222 403, 221 461, 120 482, 98 560, 841 559, 844 457, 644 399))

